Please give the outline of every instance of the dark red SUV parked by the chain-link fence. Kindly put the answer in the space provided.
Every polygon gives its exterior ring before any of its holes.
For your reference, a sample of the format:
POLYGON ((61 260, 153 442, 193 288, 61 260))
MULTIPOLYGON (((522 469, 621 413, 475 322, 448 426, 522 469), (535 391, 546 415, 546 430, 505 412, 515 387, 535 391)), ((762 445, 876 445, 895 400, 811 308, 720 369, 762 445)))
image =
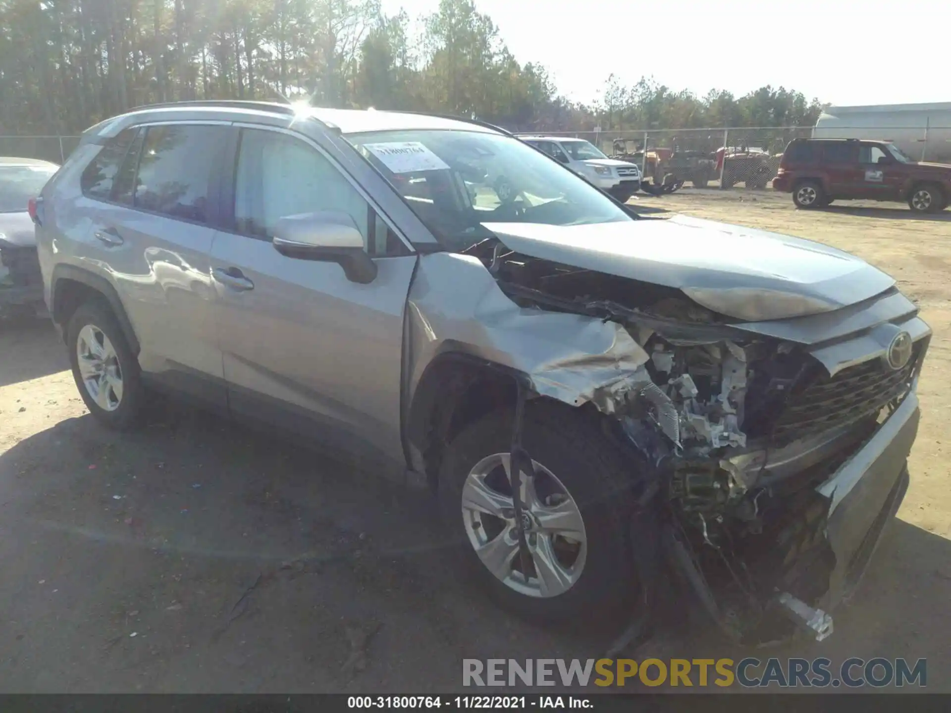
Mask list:
POLYGON ((906 201, 916 213, 938 213, 951 202, 951 165, 917 163, 884 141, 793 139, 773 188, 792 193, 800 208, 861 199, 906 201))

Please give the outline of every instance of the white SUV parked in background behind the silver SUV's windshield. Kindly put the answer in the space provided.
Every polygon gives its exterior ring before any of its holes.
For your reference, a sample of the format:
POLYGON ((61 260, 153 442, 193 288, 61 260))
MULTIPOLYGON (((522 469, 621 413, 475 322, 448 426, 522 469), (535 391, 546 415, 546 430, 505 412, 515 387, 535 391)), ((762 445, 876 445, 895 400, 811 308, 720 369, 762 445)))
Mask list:
POLYGON ((641 187, 641 169, 636 164, 609 159, 584 139, 563 136, 519 136, 523 142, 567 165, 620 202, 626 202, 641 187))

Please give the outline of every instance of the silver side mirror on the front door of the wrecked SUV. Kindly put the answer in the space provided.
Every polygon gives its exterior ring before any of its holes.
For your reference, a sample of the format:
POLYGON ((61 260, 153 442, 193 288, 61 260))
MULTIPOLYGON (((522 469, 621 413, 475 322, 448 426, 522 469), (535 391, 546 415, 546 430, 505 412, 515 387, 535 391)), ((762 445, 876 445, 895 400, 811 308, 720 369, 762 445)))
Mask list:
POLYGON ((377 277, 377 263, 363 248, 363 236, 346 213, 323 210, 278 219, 274 249, 296 260, 337 262, 352 282, 367 284, 377 277))

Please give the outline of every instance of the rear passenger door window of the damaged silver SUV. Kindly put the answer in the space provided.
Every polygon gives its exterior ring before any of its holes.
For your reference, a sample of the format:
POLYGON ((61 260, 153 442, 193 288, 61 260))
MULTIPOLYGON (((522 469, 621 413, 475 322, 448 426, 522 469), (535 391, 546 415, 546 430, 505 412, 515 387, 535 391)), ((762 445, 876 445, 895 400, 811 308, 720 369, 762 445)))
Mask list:
POLYGON ((223 133, 214 125, 149 126, 135 178, 135 207, 207 222, 211 171, 223 133))

